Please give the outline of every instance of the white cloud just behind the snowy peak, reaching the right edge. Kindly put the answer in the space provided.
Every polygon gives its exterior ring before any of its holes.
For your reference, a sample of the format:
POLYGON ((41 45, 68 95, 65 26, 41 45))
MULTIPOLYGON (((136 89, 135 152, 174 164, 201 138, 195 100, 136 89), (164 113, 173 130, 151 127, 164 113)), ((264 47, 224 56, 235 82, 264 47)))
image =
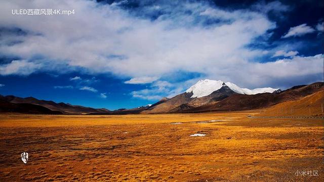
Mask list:
POLYGON ((245 62, 225 70, 217 69, 214 74, 209 75, 209 78, 230 81, 248 88, 266 86, 287 88, 285 85, 287 82, 284 80, 291 80, 288 82, 291 86, 300 84, 301 79, 305 83, 321 81, 323 64, 322 54, 308 57, 294 56, 266 63, 245 62))

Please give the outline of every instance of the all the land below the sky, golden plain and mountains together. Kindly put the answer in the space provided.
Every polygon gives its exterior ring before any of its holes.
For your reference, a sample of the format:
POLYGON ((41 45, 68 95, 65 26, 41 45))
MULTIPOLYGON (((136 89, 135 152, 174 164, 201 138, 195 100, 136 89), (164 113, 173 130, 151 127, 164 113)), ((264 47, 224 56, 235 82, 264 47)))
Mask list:
POLYGON ((113 111, 1 96, 0 179, 322 181, 323 99, 323 82, 250 90, 215 80, 113 111))

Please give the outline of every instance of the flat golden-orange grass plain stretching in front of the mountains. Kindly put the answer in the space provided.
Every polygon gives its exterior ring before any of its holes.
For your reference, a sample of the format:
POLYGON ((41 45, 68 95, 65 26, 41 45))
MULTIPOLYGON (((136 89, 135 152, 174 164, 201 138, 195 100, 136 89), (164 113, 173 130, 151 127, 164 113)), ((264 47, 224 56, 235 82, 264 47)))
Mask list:
POLYGON ((323 120, 259 112, 2 114, 0 181, 323 181, 323 120))

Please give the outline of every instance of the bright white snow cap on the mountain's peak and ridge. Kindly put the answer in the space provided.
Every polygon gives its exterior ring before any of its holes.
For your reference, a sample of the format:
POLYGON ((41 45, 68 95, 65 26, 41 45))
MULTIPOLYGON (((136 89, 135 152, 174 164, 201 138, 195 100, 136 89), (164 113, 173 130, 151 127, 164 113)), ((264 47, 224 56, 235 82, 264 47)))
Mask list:
POLYGON ((234 83, 231 82, 224 82, 221 80, 199 80, 196 84, 192 85, 190 88, 186 90, 186 93, 191 93, 191 98, 201 98, 205 96, 209 96, 214 91, 220 89, 223 86, 228 86, 231 90, 238 94, 246 94, 246 95, 254 95, 260 93, 273 93, 278 88, 255 88, 255 89, 248 89, 248 88, 241 88, 234 83))

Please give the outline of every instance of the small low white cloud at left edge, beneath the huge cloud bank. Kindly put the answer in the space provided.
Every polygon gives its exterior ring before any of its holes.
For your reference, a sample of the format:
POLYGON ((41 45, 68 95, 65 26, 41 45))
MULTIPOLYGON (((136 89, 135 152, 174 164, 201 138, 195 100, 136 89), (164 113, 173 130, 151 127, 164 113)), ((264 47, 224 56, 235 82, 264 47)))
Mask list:
POLYGON ((28 62, 27 60, 14 60, 9 64, 0 65, 1 75, 29 75, 42 67, 39 63, 28 62))

